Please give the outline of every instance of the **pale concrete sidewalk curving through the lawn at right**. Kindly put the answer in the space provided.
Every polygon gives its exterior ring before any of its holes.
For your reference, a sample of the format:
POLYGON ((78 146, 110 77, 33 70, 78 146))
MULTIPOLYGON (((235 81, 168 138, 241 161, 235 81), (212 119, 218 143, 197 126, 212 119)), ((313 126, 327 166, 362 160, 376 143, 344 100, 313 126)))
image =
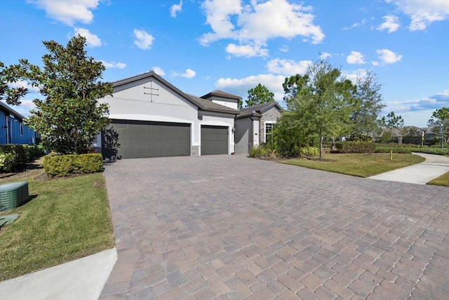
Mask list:
POLYGON ((389 171, 368 178, 382 181, 426 184, 432 179, 449 172, 449 157, 416 152, 413 152, 413 154, 420 155, 426 160, 420 164, 413 164, 410 167, 389 171))

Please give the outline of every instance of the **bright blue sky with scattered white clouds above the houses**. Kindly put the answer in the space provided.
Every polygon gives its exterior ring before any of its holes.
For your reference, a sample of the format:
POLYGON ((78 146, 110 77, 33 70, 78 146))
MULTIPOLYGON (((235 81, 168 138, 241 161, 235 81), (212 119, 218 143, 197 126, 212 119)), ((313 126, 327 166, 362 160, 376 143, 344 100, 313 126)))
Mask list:
MULTIPOLYGON (((105 81, 154 70, 186 93, 244 99, 261 83, 282 104, 283 80, 321 55, 349 79, 373 70, 384 115, 406 125, 449 107, 449 0, 0 1, 5 65, 41 65, 41 41, 65 45, 78 33, 105 81)), ((29 115, 38 96, 14 109, 29 115)))

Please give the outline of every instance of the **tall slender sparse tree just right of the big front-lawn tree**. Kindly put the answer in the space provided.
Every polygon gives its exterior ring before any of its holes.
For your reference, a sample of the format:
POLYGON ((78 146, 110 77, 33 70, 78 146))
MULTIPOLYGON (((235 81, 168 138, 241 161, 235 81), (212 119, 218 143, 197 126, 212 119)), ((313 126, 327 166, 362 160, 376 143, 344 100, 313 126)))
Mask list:
POLYGON ((380 129, 379 114, 384 109, 382 86, 376 75, 368 70, 364 77, 356 79, 357 110, 351 114, 351 136, 374 136, 380 129))

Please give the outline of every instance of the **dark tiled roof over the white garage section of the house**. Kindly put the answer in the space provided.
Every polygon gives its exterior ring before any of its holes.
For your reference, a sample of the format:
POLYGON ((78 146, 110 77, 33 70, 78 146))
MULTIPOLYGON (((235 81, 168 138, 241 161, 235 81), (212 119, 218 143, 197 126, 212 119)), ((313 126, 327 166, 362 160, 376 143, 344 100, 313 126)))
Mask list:
MULTIPOLYGON (((234 110, 231 107, 226 107, 225 105, 213 103, 210 100, 206 100, 206 99, 203 99, 203 98, 200 98, 197 96, 193 96, 193 95, 184 93, 180 89, 177 89, 176 86, 174 86, 173 84, 170 84, 170 82, 166 81, 166 79, 163 79, 162 77, 160 77, 154 71, 150 71, 150 72, 147 72, 144 74, 136 75, 136 76, 129 77, 126 79, 121 79, 119 81, 115 81, 112 83, 112 87, 115 89, 116 87, 123 86, 124 84, 130 84, 134 81, 147 79, 149 77, 154 77, 158 81, 161 81, 164 85, 168 86, 169 89, 171 89, 172 91, 177 93, 179 96, 181 96, 182 98, 185 98, 187 101, 189 101, 190 103, 192 103, 193 105, 198 107, 199 110, 205 110, 208 112, 223 112, 223 113, 233 114, 233 115, 239 114, 239 110, 234 110)), ((226 93, 224 91, 218 91, 218 90, 212 91, 212 92, 208 93, 207 95, 214 95, 214 96, 220 95, 220 97, 233 98, 233 99, 238 97, 238 99, 240 99, 239 96, 233 95, 232 93, 226 93)))

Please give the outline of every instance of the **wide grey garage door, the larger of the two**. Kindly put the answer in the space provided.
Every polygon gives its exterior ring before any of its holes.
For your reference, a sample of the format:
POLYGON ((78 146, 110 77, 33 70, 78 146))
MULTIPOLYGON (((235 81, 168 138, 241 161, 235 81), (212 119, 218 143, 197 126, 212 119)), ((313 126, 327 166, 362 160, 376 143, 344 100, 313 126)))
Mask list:
POLYGON ((113 120, 121 158, 190 155, 190 124, 113 120))

